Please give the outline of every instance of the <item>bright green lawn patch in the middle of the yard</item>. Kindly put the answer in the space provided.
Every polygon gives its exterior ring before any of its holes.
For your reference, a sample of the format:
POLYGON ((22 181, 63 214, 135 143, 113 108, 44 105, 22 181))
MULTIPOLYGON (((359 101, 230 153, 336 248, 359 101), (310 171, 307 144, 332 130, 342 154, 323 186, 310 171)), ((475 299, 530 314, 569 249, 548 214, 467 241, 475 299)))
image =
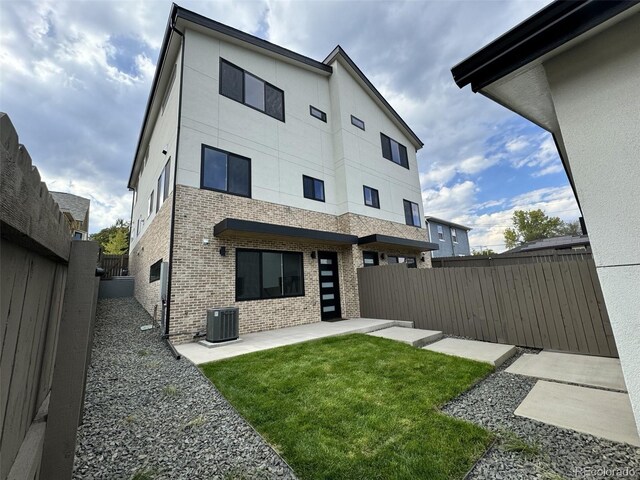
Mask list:
POLYGON ((460 479, 491 434, 438 407, 493 370, 368 335, 202 366, 301 479, 460 479))

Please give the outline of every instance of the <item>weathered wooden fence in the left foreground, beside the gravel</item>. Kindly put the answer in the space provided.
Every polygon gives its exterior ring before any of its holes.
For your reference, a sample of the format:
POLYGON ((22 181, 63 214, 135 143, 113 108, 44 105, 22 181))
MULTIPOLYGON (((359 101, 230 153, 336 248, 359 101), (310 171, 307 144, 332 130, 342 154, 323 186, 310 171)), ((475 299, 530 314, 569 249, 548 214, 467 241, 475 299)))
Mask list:
POLYGON ((0 480, 71 478, 98 245, 66 219, 0 113, 0 480))

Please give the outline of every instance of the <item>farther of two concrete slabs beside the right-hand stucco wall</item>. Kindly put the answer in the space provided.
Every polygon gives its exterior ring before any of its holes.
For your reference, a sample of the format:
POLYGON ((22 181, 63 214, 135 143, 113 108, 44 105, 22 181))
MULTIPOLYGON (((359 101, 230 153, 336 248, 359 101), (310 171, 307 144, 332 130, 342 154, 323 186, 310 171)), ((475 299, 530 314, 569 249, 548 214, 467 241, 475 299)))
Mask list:
POLYGON ((538 355, 522 355, 506 371, 545 380, 627 390, 617 358, 542 351, 538 355))

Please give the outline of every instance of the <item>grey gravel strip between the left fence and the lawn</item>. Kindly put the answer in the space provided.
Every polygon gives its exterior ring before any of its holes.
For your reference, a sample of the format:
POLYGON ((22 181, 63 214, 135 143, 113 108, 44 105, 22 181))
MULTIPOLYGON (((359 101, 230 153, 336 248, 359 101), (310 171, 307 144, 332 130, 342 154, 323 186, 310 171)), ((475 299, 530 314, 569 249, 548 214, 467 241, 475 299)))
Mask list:
POLYGON ((295 478, 131 298, 98 304, 75 479, 295 478))

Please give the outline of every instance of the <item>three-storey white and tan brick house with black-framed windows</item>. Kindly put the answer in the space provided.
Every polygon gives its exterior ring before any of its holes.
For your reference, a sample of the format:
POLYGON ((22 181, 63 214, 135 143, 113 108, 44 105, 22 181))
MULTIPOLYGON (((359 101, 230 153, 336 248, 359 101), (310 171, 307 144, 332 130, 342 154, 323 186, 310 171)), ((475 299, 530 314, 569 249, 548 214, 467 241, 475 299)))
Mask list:
POLYGON ((416 150, 336 47, 322 62, 172 7, 128 186, 135 296, 193 339, 359 316, 356 269, 430 266, 416 150))

